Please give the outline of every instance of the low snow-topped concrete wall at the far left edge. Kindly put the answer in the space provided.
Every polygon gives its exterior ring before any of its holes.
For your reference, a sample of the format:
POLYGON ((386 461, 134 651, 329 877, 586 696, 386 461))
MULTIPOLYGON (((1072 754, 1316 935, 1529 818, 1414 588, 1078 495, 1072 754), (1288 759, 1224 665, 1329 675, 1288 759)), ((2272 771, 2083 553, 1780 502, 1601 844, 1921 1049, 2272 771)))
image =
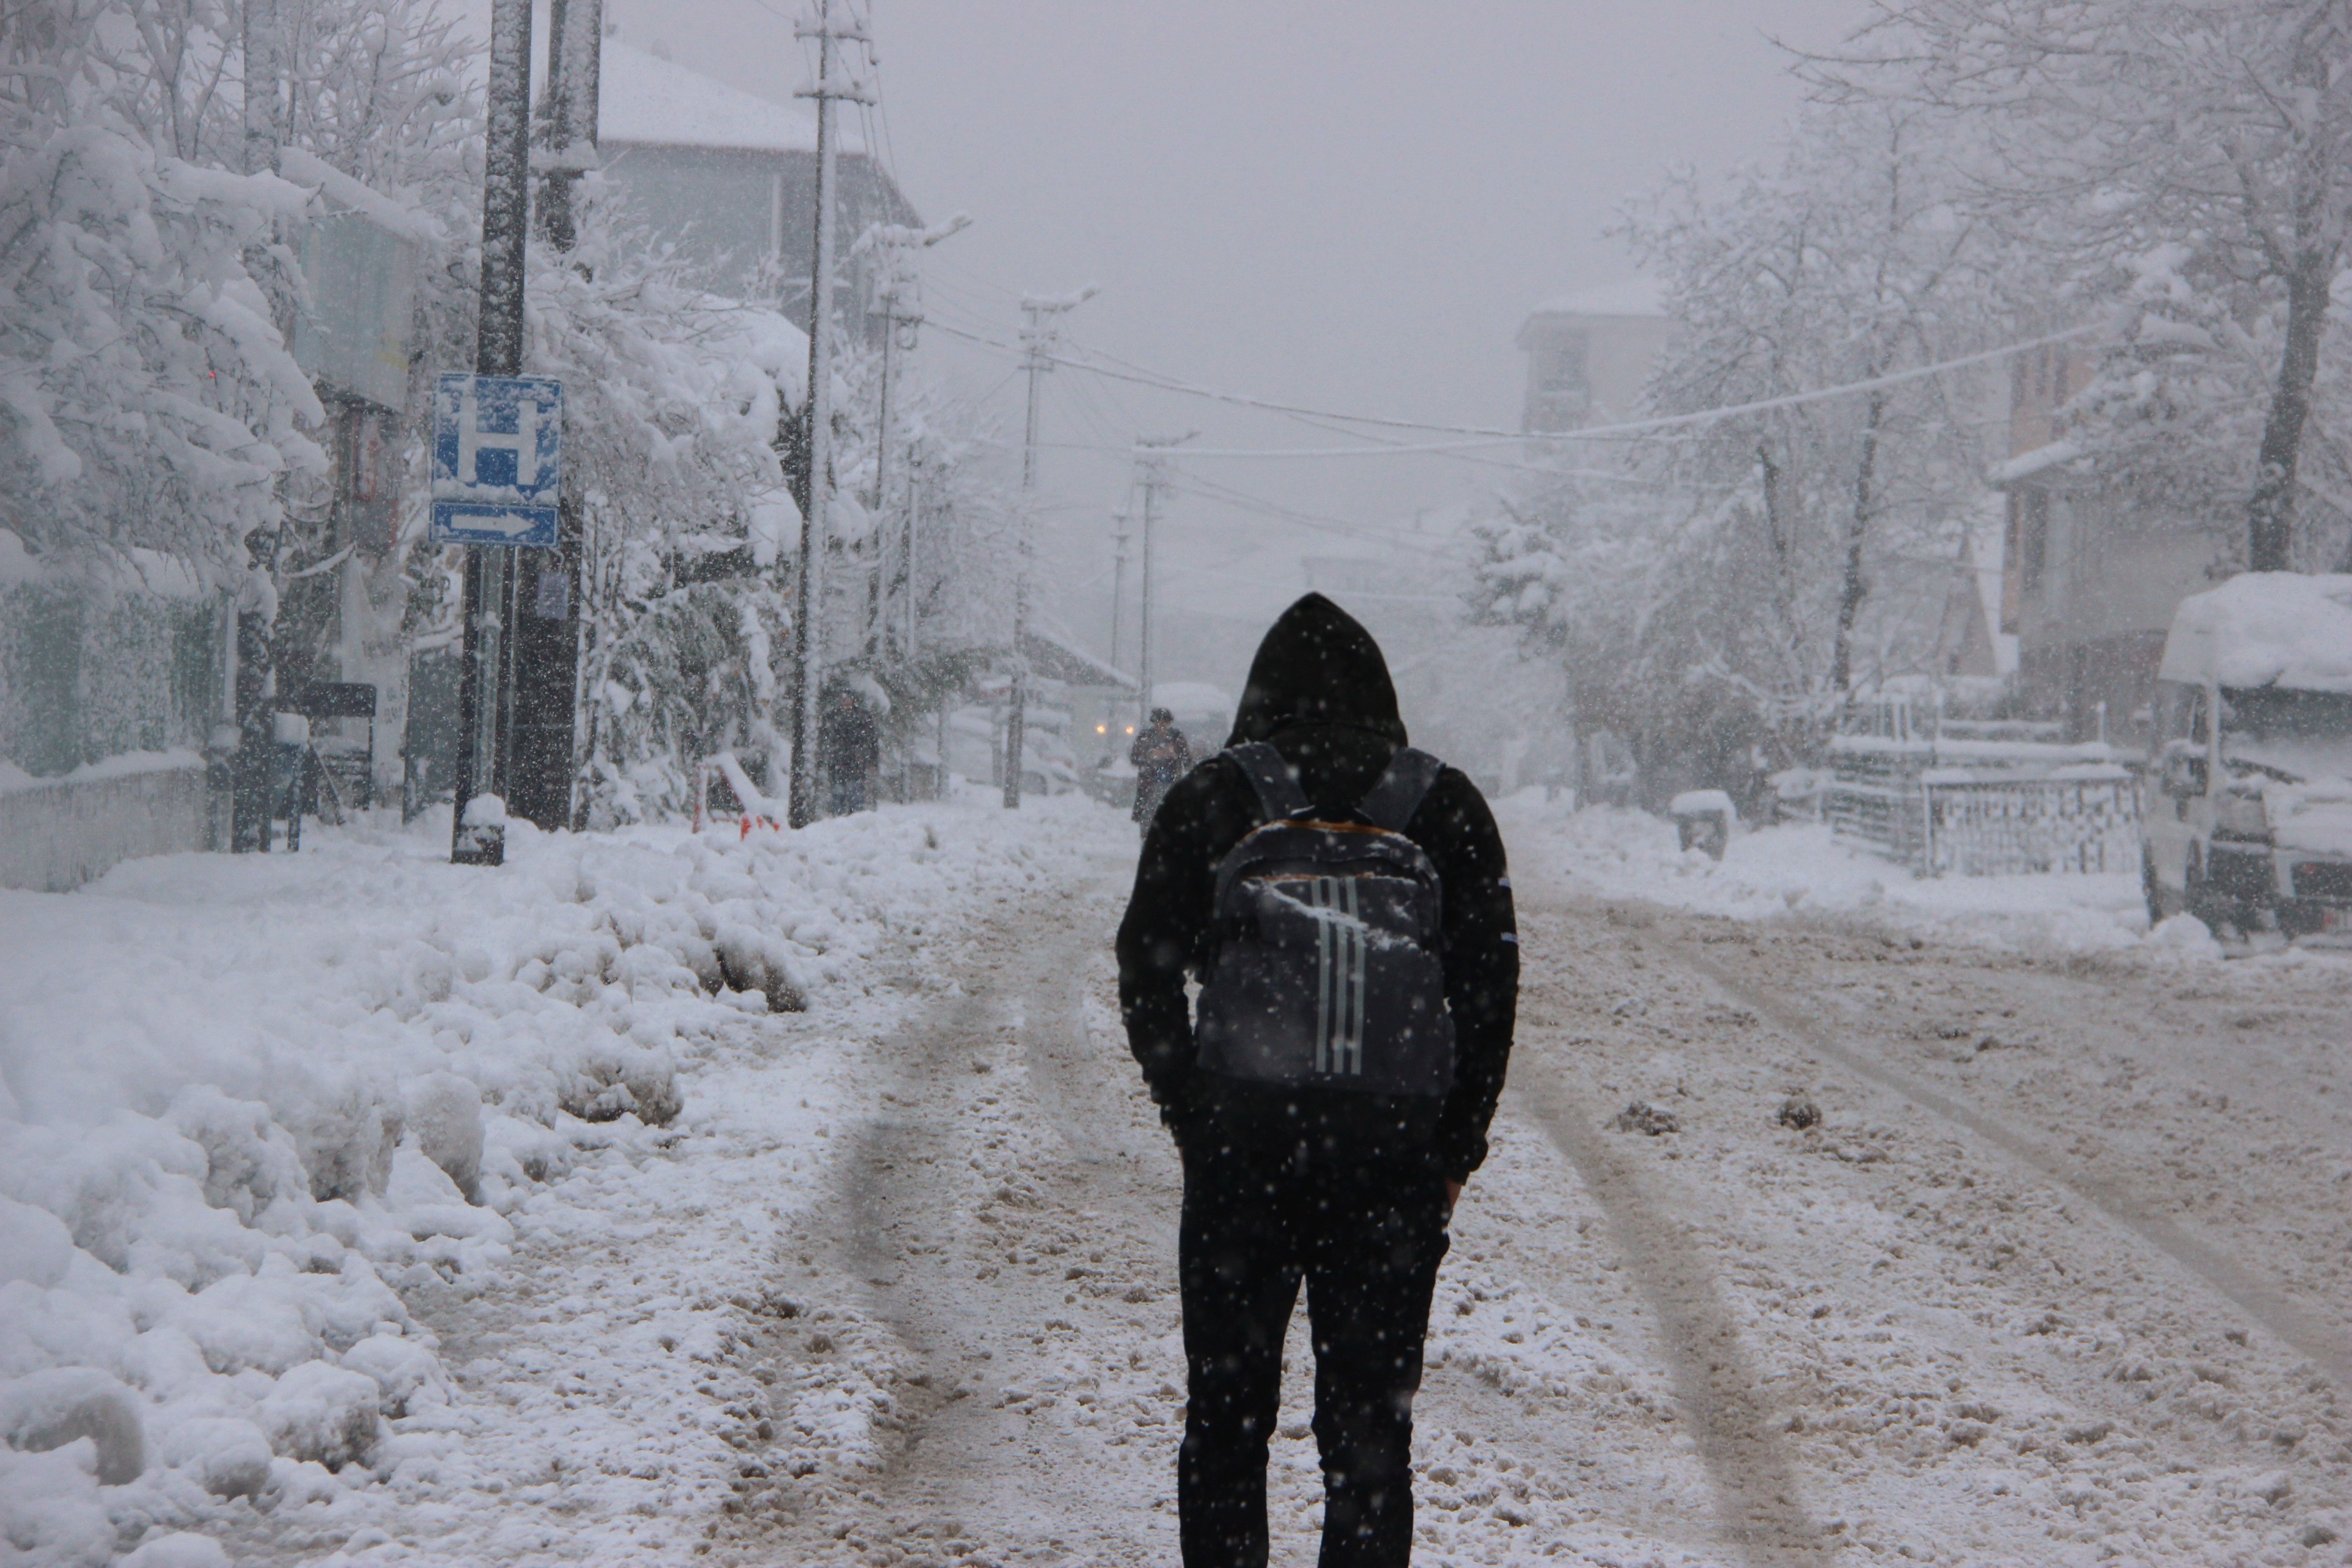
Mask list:
POLYGON ((209 849, 205 764, 125 762, 0 790, 0 886, 66 893, 136 856, 209 849))

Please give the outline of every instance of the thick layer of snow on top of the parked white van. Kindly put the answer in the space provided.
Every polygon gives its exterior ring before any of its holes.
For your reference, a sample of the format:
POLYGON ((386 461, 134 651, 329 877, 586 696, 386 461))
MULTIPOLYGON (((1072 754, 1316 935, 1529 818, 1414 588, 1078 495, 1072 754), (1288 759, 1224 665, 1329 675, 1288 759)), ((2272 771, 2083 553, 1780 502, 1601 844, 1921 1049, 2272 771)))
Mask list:
POLYGON ((2352 574, 2241 571, 2180 599, 2157 675, 2352 691, 2352 574))

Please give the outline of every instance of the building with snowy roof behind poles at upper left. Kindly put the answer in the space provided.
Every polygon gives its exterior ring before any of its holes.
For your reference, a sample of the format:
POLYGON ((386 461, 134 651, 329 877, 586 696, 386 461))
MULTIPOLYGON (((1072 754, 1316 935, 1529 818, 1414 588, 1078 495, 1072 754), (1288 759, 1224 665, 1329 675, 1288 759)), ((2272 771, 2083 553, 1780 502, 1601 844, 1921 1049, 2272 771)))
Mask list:
MULTIPOLYGON (((816 233, 816 108, 769 101, 656 52, 604 40, 597 150, 630 214, 708 268, 722 294, 776 303, 809 324, 816 233)), ((868 223, 917 223, 851 125, 840 125, 840 252, 851 292, 842 320, 868 320, 870 266, 849 259, 868 223)))

